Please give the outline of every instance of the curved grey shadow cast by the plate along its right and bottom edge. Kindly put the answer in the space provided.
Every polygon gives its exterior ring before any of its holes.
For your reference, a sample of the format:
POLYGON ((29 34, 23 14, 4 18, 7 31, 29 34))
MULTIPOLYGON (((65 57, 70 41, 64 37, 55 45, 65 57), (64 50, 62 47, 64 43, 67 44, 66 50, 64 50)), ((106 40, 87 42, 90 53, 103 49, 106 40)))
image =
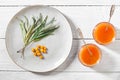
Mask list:
MULTIPOLYGON (((77 37, 75 25, 73 24, 73 22, 72 22, 67 16, 65 16, 65 17, 66 17, 66 19, 68 20, 68 22, 69 22, 69 24, 70 24, 73 38, 74 38, 74 37, 77 37)), ((56 74, 64 71, 64 70, 65 70, 66 68, 68 68, 68 66, 74 61, 74 59, 75 59, 75 57, 76 57, 76 54, 77 54, 77 51, 78 51, 78 46, 79 46, 79 40, 73 40, 73 41, 72 41, 71 51, 70 51, 70 54, 69 54, 68 58, 67 58, 66 61, 65 61, 63 64, 61 64, 57 69, 55 69, 55 70, 53 70, 53 71, 50 71, 50 72, 35 73, 35 74, 47 76, 47 75, 56 75, 56 74)), ((33 72, 33 73, 34 73, 34 72, 33 72)))

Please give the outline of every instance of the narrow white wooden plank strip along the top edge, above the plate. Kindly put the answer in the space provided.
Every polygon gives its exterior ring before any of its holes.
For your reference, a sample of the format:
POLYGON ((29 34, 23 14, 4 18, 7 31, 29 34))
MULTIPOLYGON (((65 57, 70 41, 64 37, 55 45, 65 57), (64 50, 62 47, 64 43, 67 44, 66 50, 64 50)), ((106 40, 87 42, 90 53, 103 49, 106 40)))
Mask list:
POLYGON ((119 5, 119 0, 0 0, 0 5, 119 5))

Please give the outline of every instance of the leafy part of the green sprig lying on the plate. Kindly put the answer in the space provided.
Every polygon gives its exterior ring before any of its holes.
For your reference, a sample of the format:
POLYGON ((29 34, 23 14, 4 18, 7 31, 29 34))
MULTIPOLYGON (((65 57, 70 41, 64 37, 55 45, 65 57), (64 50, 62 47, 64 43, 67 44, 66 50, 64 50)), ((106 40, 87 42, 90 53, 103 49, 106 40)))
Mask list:
MULTIPOLYGON (((43 18, 43 15, 40 13, 38 17, 32 17, 32 23, 30 20, 24 16, 25 20, 20 20, 20 29, 23 36, 24 48, 32 42, 37 42, 49 35, 52 35, 59 26, 54 25, 55 18, 52 18, 49 22, 48 16, 43 18)), ((21 50, 20 50, 21 51, 21 50)), ((22 50, 24 53, 24 50, 22 50)))

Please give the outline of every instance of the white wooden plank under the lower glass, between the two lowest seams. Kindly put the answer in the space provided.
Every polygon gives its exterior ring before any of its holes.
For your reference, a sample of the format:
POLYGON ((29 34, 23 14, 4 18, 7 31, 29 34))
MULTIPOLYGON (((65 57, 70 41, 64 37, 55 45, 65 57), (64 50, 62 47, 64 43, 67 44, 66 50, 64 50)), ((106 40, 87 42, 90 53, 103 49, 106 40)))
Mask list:
MULTIPOLYGON (((95 43, 94 40, 86 40, 87 43, 95 43)), ((98 45, 102 50, 101 62, 94 67, 83 66, 78 60, 78 51, 83 45, 79 40, 73 41, 73 47, 67 60, 55 71, 80 71, 80 72, 120 72, 120 40, 114 41, 112 44, 107 46, 98 45)), ((5 48, 5 41, 0 39, 0 70, 7 71, 24 71, 16 66, 9 58, 5 48)))

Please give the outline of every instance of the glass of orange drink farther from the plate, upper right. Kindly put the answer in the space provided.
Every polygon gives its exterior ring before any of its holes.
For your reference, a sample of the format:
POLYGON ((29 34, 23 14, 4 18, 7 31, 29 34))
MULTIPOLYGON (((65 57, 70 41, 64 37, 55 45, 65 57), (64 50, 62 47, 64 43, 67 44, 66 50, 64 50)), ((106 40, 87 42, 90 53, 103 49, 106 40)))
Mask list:
POLYGON ((94 40, 102 45, 106 45, 115 40, 116 30, 109 22, 100 22, 93 29, 94 40))

